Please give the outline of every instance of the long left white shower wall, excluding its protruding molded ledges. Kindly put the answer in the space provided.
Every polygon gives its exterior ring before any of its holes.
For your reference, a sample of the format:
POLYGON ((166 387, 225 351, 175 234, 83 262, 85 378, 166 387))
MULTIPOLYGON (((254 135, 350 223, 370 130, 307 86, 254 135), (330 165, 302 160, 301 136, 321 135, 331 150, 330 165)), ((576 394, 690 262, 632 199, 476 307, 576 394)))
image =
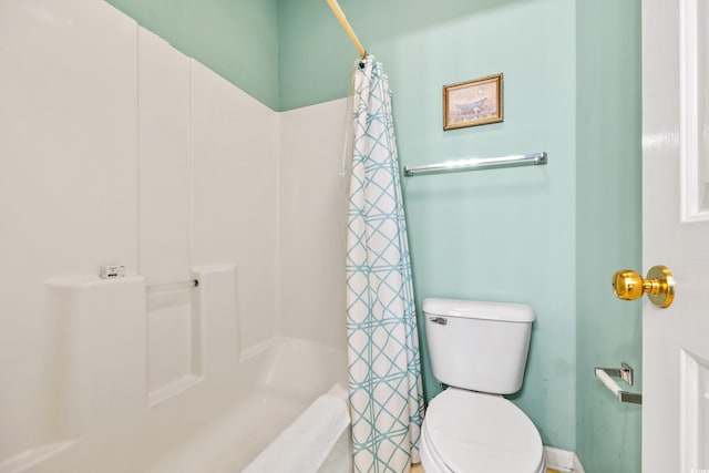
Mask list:
MULTIPOLYGON (((50 279, 232 264, 242 349, 276 336, 278 115, 103 1, 0 2, 0 63, 1 465, 65 433, 50 279)), ((147 299, 148 391, 199 374, 193 302, 147 299)))

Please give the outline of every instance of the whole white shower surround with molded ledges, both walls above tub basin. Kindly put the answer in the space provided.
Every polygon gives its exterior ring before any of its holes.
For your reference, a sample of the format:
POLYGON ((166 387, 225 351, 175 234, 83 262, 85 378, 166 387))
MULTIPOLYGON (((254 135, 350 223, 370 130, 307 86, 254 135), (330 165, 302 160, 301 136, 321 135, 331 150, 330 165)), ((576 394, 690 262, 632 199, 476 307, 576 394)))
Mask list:
POLYGON ((343 101, 274 112, 100 0, 1 9, 0 472, 148 471, 285 370, 267 443, 345 376, 343 101))

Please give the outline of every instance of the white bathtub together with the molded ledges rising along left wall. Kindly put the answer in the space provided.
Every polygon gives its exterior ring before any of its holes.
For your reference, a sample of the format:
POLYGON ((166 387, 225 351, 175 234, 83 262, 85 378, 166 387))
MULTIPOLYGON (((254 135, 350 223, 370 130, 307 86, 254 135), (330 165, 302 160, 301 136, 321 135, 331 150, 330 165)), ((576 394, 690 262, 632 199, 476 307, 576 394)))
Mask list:
POLYGON ((276 337, 244 350, 235 267, 193 274, 198 288, 163 291, 135 275, 47 282, 51 397, 35 431, 0 428, 0 473, 235 473, 284 456, 289 426, 331 441, 322 471, 351 471, 346 425, 315 432, 347 412, 345 349, 276 337))

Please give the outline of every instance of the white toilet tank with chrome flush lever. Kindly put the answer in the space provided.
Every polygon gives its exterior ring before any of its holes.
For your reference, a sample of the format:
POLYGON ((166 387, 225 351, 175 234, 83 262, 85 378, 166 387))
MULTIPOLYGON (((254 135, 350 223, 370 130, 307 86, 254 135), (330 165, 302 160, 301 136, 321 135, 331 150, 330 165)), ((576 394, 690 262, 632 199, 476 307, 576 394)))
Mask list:
POLYGON ((511 394, 522 388, 532 307, 428 298, 425 335, 433 376, 455 388, 511 394))

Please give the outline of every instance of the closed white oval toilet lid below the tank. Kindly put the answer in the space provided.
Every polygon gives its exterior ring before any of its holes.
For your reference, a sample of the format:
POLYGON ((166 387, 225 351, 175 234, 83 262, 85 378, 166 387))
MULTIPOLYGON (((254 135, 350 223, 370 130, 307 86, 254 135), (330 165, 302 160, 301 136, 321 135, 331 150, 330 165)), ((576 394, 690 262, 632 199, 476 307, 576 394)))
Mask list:
POLYGON ((454 472, 538 471, 540 433, 504 398, 449 388, 433 398, 423 421, 434 454, 454 472))

